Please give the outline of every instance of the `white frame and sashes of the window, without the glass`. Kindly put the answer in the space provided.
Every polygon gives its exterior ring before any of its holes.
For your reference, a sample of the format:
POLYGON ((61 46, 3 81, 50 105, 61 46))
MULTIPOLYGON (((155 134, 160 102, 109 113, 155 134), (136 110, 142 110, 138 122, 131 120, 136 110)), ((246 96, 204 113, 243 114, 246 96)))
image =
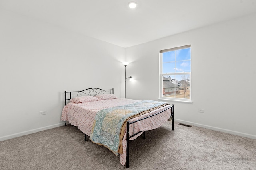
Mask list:
MULTIPOLYGON (((164 99, 164 100, 175 100, 175 101, 184 101, 184 102, 191 102, 191 61, 192 61, 192 56, 191 56, 191 45, 185 45, 185 46, 181 46, 181 47, 175 47, 175 48, 171 48, 171 49, 165 49, 165 50, 160 50, 159 53, 159 65, 160 65, 160 70, 159 70, 159 84, 160 84, 160 88, 159 88, 159 98, 160 99, 164 99), (163 56, 162 53, 164 52, 168 52, 168 51, 176 51, 179 49, 186 49, 186 48, 190 48, 190 72, 177 72, 177 73, 166 73, 163 74, 162 73, 162 65, 163 65, 163 56), (189 83, 189 87, 190 87, 190 98, 186 99, 186 98, 175 98, 175 97, 165 97, 163 96, 163 76, 168 75, 168 76, 175 76, 175 75, 189 75, 190 77, 190 83, 189 83)), ((178 85, 174 85, 174 87, 179 87, 178 85)))

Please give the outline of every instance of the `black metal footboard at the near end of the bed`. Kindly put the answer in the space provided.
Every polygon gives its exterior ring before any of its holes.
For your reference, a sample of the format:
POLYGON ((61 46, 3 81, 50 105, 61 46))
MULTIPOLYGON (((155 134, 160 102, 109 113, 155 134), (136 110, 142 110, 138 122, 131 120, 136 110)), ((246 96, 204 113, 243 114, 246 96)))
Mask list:
MULTIPOLYGON (((172 114, 171 114, 171 117, 172 117, 172 130, 174 130, 174 104, 172 105, 172 107, 169 107, 168 109, 172 109, 172 114)), ((155 116, 155 115, 158 115, 168 109, 165 109, 159 113, 156 113, 154 115, 150 115, 148 117, 144 117, 142 119, 139 119, 137 121, 134 121, 132 123, 130 123, 130 121, 126 121, 126 142, 127 142, 127 148, 126 148, 126 168, 129 168, 129 141, 130 141, 130 138, 134 137, 135 135, 138 135, 139 133, 141 133, 142 131, 139 131, 137 133, 134 133, 134 123, 138 122, 138 121, 141 121, 141 120, 144 120, 144 119, 147 119, 149 117, 152 117, 152 116, 155 116), (130 136, 130 124, 133 124, 133 135, 130 136)), ((143 131, 143 138, 145 139, 145 131, 143 131)))

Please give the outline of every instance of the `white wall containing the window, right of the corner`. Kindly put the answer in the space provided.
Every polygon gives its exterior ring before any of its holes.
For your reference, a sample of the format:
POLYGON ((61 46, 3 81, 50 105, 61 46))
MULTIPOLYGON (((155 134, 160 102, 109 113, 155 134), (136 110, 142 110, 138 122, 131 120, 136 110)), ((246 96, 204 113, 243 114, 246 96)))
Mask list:
POLYGON ((255 21, 256 14, 127 48, 136 81, 126 84, 126 98, 158 100, 159 51, 191 45, 192 103, 169 101, 175 119, 256 139, 255 21))

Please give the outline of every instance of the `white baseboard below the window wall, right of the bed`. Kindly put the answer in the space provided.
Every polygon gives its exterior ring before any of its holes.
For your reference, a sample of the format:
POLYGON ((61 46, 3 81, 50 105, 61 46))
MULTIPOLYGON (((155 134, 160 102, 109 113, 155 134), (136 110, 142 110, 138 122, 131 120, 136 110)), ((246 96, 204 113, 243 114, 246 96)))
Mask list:
MULTIPOLYGON (((194 126, 203 127, 203 128, 206 128, 206 129, 211 129, 211 130, 214 130, 214 131, 230 133, 232 135, 238 135, 238 136, 242 136, 242 137, 248 137, 248 138, 251 138, 251 139, 256 139, 256 135, 251 135, 251 134, 248 134, 248 133, 242 133, 242 132, 238 132, 238 131, 232 131, 232 130, 228 130, 228 129, 222 129, 222 128, 218 128, 218 127, 202 125, 202 124, 193 123, 193 122, 190 122, 190 121, 183 121, 183 120, 180 120, 180 119, 174 119, 174 121, 179 122, 179 123, 184 123, 184 124, 187 124, 187 125, 194 125, 194 126)), ((174 129, 175 129, 175 127, 174 127, 174 129)))

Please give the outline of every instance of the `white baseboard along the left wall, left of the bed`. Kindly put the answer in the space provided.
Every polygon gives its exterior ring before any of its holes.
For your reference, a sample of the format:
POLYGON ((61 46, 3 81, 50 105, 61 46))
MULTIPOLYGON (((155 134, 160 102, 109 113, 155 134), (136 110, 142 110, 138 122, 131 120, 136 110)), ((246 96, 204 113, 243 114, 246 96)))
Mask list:
POLYGON ((15 137, 20 137, 20 136, 23 136, 23 135, 28 135, 28 134, 31 134, 31 133, 36 133, 36 132, 40 132, 40 131, 44 131, 44 130, 47 130, 47 129, 52 129, 54 127, 60 127, 60 126, 64 126, 64 123, 58 123, 58 124, 55 124, 55 125, 40 127, 40 128, 32 129, 32 130, 29 130, 29 131, 24 131, 24 132, 20 132, 20 133, 14 133, 12 135, 3 136, 3 137, 0 137, 0 141, 4 141, 4 140, 7 140, 7 139, 12 139, 12 138, 15 138, 15 137))

